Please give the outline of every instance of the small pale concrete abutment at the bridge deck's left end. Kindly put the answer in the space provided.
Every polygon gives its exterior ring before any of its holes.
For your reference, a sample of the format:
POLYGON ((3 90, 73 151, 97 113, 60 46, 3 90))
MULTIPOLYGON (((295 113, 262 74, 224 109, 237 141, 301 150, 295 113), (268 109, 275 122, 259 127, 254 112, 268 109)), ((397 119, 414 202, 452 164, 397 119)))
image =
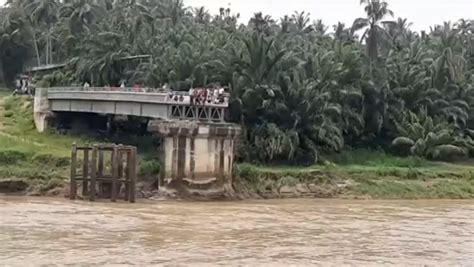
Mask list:
POLYGON ((48 90, 37 88, 33 105, 33 118, 38 132, 42 133, 48 129, 52 115, 49 109, 48 90))

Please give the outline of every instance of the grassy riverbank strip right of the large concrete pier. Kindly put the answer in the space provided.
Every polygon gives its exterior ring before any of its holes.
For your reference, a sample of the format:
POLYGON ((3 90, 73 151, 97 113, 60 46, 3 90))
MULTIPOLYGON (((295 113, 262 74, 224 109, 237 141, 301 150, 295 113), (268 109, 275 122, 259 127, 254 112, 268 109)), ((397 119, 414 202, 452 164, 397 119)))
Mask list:
POLYGON ((474 167, 468 163, 433 163, 377 151, 343 154, 353 159, 306 168, 241 164, 235 187, 262 197, 474 198, 474 167))

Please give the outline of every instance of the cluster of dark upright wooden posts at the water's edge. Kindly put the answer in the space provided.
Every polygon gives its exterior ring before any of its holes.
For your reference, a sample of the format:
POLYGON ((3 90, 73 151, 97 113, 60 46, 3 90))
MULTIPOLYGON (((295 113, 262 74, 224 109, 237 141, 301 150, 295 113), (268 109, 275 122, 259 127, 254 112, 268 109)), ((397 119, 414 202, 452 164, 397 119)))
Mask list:
POLYGON ((82 196, 88 196, 90 201, 98 197, 115 202, 123 196, 125 201, 133 203, 136 173, 136 147, 114 144, 79 147, 73 144, 70 199, 76 199, 77 184, 82 182, 82 196))

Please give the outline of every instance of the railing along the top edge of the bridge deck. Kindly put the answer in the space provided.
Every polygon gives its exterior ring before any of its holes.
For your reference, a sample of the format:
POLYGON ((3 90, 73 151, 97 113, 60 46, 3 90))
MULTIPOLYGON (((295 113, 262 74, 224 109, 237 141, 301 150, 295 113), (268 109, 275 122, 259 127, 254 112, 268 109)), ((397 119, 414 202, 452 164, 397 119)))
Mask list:
POLYGON ((166 95, 166 102, 180 105, 201 104, 203 106, 220 106, 227 107, 229 104, 229 93, 224 93, 221 99, 217 99, 211 95, 203 103, 194 101, 191 103, 189 92, 172 91, 163 88, 134 88, 134 87, 51 87, 47 89, 48 92, 120 92, 120 93, 134 93, 134 94, 163 94, 166 95))

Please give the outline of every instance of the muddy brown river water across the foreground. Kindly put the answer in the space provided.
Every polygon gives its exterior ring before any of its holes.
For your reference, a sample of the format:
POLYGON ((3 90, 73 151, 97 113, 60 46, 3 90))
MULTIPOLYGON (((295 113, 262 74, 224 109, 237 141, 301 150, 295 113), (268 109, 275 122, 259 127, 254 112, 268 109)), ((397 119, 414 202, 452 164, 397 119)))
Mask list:
POLYGON ((474 266, 473 201, 0 196, 0 266, 474 266))

